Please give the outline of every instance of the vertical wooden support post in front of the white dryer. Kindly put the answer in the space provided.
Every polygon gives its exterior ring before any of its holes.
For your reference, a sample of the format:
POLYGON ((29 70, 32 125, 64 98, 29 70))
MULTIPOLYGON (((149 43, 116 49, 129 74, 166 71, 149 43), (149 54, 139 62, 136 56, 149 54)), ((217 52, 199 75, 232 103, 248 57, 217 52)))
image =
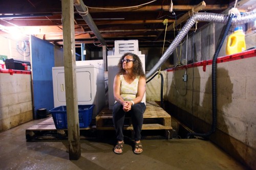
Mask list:
POLYGON ((62 0, 63 52, 67 103, 69 159, 81 156, 76 88, 75 29, 73 0, 62 0))

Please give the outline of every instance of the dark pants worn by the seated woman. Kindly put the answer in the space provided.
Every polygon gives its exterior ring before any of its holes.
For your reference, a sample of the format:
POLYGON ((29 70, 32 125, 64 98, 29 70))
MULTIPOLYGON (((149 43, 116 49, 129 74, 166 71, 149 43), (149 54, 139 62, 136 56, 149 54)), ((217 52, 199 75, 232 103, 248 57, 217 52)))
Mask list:
POLYGON ((113 107, 113 123, 116 130, 116 138, 118 141, 123 140, 123 124, 124 117, 131 116, 132 124, 134 129, 134 138, 135 141, 139 141, 141 138, 140 132, 143 124, 143 113, 146 110, 144 103, 137 103, 132 106, 132 109, 129 112, 123 111, 123 106, 120 103, 115 103, 113 107))

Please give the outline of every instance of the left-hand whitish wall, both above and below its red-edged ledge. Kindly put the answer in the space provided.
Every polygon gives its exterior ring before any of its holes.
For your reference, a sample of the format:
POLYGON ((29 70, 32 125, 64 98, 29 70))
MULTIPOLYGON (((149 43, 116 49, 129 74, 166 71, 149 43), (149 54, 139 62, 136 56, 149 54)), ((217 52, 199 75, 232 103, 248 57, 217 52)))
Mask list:
MULTIPOLYGON (((18 42, 0 36, 0 55, 30 61, 28 53, 23 54, 17 50, 18 42)), ((0 131, 32 119, 31 75, 0 73, 0 131)))

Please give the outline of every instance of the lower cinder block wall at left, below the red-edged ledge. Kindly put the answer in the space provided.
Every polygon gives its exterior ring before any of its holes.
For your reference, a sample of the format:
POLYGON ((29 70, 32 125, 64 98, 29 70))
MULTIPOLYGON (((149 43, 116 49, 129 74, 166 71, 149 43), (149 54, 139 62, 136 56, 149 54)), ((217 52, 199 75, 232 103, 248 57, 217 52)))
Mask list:
POLYGON ((31 75, 0 74, 0 131, 33 119, 31 75))

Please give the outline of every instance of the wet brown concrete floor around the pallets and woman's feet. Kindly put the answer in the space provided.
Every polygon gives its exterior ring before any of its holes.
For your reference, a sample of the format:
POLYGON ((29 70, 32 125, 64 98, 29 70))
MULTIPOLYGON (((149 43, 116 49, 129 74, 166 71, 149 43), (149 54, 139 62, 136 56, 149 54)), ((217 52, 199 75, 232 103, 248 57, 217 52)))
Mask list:
POLYGON ((210 141, 143 139, 135 155, 125 138, 121 155, 113 152, 115 137, 81 139, 81 157, 69 160, 68 140, 26 141, 33 120, 0 133, 0 169, 246 169, 210 141))

